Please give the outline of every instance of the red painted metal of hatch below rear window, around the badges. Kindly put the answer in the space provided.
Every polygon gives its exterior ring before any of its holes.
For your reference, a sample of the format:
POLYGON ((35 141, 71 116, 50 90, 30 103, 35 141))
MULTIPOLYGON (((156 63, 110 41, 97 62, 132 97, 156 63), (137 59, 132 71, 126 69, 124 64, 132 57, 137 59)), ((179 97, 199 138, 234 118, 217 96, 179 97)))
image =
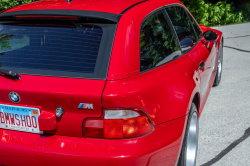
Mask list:
POLYGON ((13 104, 8 95, 14 91, 21 97, 19 106, 39 107, 41 114, 55 114, 56 108, 62 107, 65 114, 53 134, 82 137, 83 120, 102 116, 105 80, 22 75, 19 81, 0 77, 0 83, 1 103, 13 104), (78 109, 80 103, 92 103, 94 109, 78 109))

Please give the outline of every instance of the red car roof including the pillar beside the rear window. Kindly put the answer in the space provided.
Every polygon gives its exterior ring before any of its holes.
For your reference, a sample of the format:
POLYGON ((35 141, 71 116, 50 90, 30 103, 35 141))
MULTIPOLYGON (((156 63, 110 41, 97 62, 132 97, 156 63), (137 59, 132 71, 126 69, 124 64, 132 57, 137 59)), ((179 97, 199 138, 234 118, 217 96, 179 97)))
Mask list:
MULTIPOLYGON (((143 20, 163 6, 178 4, 179 0, 41 0, 14 7, 1 17, 34 15, 72 15, 96 17, 116 22, 108 80, 124 79, 140 74, 140 27, 143 20)), ((8 18, 7 18, 8 19, 8 18)))

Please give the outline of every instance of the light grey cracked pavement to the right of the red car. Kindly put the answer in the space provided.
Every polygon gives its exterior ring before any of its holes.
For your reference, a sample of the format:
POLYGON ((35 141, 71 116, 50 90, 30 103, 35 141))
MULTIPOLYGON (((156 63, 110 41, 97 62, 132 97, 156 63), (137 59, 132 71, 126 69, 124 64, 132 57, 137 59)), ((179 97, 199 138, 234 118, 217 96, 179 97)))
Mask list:
POLYGON ((250 166, 250 23, 223 32, 222 80, 212 88, 199 124, 197 166, 250 166))

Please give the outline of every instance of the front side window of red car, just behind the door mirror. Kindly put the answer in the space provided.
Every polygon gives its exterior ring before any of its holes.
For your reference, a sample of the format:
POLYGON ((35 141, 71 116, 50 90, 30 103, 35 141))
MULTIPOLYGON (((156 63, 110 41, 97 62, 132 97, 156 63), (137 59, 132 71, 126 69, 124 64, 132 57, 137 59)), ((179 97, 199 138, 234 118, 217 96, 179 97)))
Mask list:
POLYGON ((181 50, 184 53, 189 51, 196 44, 197 37, 185 10, 182 7, 173 6, 166 8, 166 11, 179 38, 181 50))

